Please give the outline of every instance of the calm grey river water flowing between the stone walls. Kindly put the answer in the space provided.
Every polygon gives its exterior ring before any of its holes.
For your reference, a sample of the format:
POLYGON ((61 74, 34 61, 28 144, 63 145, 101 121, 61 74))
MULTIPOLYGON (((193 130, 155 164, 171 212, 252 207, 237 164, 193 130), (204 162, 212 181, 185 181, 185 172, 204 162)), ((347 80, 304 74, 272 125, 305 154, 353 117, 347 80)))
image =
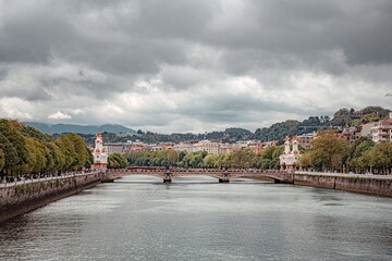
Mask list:
POLYGON ((127 176, 1 224, 0 260, 392 260, 392 199, 127 176))

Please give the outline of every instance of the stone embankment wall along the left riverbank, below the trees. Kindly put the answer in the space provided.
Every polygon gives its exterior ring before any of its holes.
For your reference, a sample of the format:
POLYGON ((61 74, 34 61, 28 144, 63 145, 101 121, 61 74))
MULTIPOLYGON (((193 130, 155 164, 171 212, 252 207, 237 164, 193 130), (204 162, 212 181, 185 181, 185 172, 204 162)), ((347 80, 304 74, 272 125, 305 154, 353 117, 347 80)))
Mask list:
POLYGON ((101 183, 102 175, 96 172, 11 187, 0 185, 0 222, 93 187, 101 183))

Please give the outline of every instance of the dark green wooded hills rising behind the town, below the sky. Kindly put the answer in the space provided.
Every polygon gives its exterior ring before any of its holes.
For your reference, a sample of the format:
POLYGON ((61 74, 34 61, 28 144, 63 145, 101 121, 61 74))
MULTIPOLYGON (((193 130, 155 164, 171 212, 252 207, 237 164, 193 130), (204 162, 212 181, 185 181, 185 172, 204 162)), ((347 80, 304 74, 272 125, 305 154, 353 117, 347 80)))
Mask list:
MULTIPOLYGON (((287 120, 281 123, 272 124, 269 127, 257 128, 255 133, 244 128, 232 127, 226 128, 223 132, 210 132, 204 134, 158 134, 152 132, 143 132, 142 129, 138 129, 137 132, 133 130, 125 133, 115 133, 101 129, 103 130, 101 134, 106 142, 126 142, 128 140, 139 140, 146 144, 182 141, 192 142, 203 139, 220 142, 236 142, 238 140, 258 139, 261 141, 278 140, 279 144, 282 144, 285 136, 292 137, 294 135, 302 135, 311 133, 314 130, 322 130, 328 128, 334 128, 338 130, 345 126, 359 126, 360 124, 377 122, 387 117, 390 111, 391 110, 384 109, 382 107, 366 107, 359 110, 360 114, 358 115, 356 114, 358 111, 355 111, 353 108, 342 108, 333 114, 332 119, 329 115, 320 115, 309 116, 304 121, 287 120)), ((82 132, 79 135, 85 139, 86 144, 94 144, 95 133, 82 132)), ((58 138, 60 135, 54 134, 53 136, 58 138)))

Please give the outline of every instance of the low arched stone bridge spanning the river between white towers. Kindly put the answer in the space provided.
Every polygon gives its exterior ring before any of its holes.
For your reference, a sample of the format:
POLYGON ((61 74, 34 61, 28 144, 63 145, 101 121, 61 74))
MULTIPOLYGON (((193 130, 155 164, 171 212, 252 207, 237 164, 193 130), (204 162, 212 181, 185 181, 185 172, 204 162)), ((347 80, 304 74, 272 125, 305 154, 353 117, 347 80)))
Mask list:
POLYGON ((294 173, 277 170, 211 170, 211 169, 162 169, 162 167, 128 167, 110 169, 107 171, 107 181, 125 175, 151 175, 163 178, 163 183, 171 183, 173 178, 188 175, 204 175, 217 178, 220 183, 229 183, 234 178, 269 178, 275 183, 294 183, 294 173))

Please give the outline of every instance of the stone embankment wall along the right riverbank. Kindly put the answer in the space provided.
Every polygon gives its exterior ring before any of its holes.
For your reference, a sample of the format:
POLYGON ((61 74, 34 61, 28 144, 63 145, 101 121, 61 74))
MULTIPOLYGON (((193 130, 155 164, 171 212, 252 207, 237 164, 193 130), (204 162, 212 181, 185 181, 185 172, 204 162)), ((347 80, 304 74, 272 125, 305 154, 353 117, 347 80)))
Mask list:
POLYGON ((294 184, 392 197, 392 176, 296 173, 294 184))

